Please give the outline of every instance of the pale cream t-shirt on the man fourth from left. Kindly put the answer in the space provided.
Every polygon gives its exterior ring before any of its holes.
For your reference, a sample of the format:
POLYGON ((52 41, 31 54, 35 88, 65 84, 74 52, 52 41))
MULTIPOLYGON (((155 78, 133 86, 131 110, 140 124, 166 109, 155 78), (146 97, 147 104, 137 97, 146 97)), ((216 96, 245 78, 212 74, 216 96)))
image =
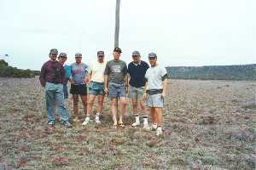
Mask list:
POLYGON ((93 82, 104 82, 104 71, 106 62, 100 63, 98 60, 92 62, 89 66, 88 73, 91 73, 91 81, 93 82))

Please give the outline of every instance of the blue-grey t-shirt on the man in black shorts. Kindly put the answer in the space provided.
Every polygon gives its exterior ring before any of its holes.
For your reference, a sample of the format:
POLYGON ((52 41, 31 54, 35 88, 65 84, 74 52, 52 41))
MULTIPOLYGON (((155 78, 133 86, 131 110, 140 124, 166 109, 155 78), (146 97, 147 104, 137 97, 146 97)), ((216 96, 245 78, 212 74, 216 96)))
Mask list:
POLYGON ((87 75, 87 67, 84 63, 73 63, 70 65, 73 81, 75 84, 83 84, 83 79, 87 75))

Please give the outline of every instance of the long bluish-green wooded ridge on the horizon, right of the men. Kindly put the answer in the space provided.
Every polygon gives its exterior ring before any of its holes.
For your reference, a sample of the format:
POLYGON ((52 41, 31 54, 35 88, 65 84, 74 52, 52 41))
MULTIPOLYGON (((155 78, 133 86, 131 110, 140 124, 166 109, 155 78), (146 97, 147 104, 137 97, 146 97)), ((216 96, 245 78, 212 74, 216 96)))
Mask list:
POLYGON ((169 78, 256 81, 256 64, 166 67, 169 78))

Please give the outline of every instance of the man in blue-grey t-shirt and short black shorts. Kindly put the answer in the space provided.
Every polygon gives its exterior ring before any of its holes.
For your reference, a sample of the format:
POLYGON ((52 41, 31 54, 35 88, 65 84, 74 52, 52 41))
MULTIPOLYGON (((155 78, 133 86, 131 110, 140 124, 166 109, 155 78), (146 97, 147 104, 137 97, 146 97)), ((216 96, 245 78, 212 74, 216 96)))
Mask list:
POLYGON ((87 114, 87 87, 86 82, 88 79, 87 75, 87 65, 82 63, 82 54, 75 54, 75 60, 72 65, 70 65, 72 73, 72 83, 70 88, 70 94, 73 94, 73 113, 74 120, 73 122, 79 122, 79 96, 82 100, 84 106, 84 114, 87 114))

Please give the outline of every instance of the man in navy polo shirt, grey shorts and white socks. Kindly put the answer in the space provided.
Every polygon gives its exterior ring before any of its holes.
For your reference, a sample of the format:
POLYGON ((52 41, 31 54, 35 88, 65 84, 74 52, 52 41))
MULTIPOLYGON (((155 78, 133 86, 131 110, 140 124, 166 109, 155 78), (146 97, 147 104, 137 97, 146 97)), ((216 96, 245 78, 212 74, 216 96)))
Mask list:
POLYGON ((141 60, 141 55, 138 51, 132 52, 133 61, 128 65, 128 74, 130 76, 130 88, 129 88, 129 98, 132 102, 133 114, 135 116, 135 122, 131 125, 132 127, 137 127, 140 125, 139 115, 138 115, 138 105, 143 112, 143 128, 148 130, 148 113, 146 110, 146 105, 143 99, 143 92, 145 88, 145 74, 148 70, 148 64, 141 60))

